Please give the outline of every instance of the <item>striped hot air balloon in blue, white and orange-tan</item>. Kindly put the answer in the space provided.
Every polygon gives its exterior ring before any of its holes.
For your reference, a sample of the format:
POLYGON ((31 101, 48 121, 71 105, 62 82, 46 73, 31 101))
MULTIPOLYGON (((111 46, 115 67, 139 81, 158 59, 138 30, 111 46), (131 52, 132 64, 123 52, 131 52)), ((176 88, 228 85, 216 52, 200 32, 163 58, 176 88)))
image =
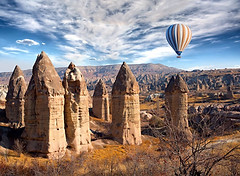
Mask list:
POLYGON ((181 58, 183 50, 192 39, 192 31, 184 24, 173 24, 168 27, 166 38, 169 45, 177 53, 177 58, 181 58))

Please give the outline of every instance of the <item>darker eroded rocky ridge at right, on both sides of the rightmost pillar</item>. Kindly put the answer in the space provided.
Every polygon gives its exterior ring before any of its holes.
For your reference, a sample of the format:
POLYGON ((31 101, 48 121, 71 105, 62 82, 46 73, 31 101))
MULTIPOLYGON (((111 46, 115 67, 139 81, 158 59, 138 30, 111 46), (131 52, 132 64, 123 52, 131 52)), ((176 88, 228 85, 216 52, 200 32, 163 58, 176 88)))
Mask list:
MULTIPOLYGON (((191 91, 227 91, 240 89, 240 69, 194 70, 179 72, 191 91)), ((137 76, 141 91, 160 91, 167 86, 173 73, 142 74, 137 76)))

